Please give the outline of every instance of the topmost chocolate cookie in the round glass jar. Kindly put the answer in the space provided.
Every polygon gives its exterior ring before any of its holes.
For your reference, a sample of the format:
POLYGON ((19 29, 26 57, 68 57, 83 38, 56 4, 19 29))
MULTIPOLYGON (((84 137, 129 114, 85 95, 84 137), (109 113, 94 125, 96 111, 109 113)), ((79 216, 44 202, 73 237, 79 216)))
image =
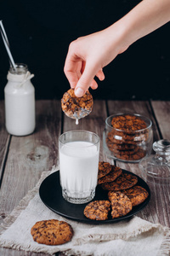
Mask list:
POLYGON ((111 125, 129 134, 146 128, 144 120, 133 114, 117 115, 111 120, 111 125))

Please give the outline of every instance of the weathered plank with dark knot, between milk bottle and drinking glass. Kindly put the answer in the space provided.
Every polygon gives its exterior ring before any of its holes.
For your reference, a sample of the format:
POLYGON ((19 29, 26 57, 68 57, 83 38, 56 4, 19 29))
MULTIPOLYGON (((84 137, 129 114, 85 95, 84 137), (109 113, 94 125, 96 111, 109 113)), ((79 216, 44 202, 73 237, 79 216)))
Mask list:
POLYGON ((12 137, 1 188, 3 218, 32 189, 43 171, 58 164, 60 103, 37 102, 37 128, 30 136, 12 137))

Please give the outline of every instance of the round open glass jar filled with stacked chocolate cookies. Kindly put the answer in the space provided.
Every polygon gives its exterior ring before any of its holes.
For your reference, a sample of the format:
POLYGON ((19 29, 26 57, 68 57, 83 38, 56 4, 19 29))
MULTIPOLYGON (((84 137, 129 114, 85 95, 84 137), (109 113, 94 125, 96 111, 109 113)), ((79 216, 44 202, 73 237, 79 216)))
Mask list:
POLYGON ((117 113, 105 119, 105 131, 103 133, 104 153, 107 157, 124 162, 139 162, 146 155, 150 155, 153 143, 152 122, 147 117, 137 113, 117 113), (123 119, 130 117, 131 126, 125 125, 123 119), (122 129, 116 129, 111 124, 112 120, 118 120, 118 126, 122 129), (140 123, 143 124, 143 129, 140 123), (138 130, 137 130, 138 129, 138 130))

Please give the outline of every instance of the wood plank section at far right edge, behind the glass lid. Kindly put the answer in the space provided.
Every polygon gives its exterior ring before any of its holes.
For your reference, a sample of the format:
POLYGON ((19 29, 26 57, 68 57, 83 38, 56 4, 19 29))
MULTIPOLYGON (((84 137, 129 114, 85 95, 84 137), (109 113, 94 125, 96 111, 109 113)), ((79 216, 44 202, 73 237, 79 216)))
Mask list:
POLYGON ((152 101, 151 105, 154 109, 161 135, 165 139, 170 139, 170 102, 152 101))

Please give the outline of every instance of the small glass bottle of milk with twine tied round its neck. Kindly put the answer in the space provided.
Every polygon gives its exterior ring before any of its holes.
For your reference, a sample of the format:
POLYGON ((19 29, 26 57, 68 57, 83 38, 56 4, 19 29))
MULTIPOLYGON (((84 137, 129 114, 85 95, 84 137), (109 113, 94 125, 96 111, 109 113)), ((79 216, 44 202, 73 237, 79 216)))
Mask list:
POLYGON ((33 76, 26 64, 16 64, 15 69, 10 67, 8 71, 4 88, 5 123, 8 133, 14 136, 31 134, 36 126, 33 76))

